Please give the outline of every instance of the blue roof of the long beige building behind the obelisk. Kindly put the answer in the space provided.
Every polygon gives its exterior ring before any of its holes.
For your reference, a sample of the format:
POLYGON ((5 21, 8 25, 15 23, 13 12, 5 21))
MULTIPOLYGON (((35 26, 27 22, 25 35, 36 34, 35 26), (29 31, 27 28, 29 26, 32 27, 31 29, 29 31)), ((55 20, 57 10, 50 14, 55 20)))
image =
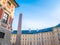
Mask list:
MULTIPOLYGON (((45 28, 45 29, 41 29, 41 30, 22 30, 21 33, 22 34, 37 34, 37 33, 44 33, 44 32, 51 32, 52 31, 52 27, 51 28, 45 28)), ((14 30, 12 32, 12 34, 17 34, 17 30, 14 30)))

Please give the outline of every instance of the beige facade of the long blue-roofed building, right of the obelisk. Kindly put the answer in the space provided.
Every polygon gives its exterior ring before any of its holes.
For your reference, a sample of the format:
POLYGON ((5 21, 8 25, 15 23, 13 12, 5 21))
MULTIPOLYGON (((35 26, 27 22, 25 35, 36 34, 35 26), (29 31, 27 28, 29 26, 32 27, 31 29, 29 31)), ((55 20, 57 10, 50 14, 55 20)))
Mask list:
POLYGON ((22 34, 22 45, 59 45, 58 32, 53 29, 51 32, 37 34, 22 34))

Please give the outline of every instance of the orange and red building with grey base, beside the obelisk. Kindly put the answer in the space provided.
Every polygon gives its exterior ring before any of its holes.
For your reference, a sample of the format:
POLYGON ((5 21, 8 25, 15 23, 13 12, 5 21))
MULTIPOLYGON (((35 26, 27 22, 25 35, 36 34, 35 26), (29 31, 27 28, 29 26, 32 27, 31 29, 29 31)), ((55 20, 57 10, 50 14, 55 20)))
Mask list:
POLYGON ((15 0, 0 0, 0 45, 10 45, 14 10, 18 7, 15 0))

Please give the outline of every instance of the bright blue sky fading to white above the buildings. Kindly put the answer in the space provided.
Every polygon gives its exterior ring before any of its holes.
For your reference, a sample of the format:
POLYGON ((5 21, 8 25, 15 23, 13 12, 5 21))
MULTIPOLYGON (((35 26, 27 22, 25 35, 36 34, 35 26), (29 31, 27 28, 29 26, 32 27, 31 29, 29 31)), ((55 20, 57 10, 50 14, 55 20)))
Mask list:
POLYGON ((16 0, 20 7, 15 9, 13 30, 17 30, 18 16, 23 14, 22 30, 42 29, 60 23, 60 0, 16 0))

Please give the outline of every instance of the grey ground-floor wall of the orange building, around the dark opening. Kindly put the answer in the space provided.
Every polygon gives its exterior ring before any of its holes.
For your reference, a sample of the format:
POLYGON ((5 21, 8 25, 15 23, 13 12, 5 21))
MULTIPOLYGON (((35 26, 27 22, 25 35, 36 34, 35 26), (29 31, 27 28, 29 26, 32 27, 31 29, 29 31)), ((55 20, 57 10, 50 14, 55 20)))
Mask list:
POLYGON ((11 36, 11 31, 0 28, 0 32, 5 33, 4 38, 0 38, 0 45, 10 45, 10 36, 11 36))

